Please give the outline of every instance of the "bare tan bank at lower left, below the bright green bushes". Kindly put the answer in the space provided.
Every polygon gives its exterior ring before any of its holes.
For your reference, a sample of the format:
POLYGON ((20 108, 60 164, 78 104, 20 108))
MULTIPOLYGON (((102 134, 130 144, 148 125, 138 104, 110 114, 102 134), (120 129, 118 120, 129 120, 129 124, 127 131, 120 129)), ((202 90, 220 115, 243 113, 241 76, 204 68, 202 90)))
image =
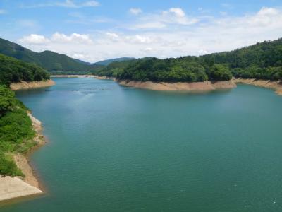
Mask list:
MULTIPOLYGON (((30 112, 28 112, 28 115, 32 120, 33 129, 36 131, 34 140, 37 142, 37 147, 42 146, 45 143, 44 136, 42 135, 42 123, 35 117, 32 117, 30 112)), ((39 181, 35 177, 32 167, 30 167, 27 156, 17 153, 13 155, 13 158, 25 177, 0 176, 0 201, 42 194, 39 181)))

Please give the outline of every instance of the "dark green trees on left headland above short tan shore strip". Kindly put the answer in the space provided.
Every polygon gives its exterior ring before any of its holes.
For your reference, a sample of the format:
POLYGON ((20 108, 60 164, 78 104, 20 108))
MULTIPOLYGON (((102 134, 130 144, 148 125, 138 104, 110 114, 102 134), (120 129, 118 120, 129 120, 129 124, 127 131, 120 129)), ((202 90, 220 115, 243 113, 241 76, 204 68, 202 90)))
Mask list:
POLYGON ((18 81, 42 81, 49 78, 49 73, 35 64, 0 54, 0 84, 8 86, 18 81))

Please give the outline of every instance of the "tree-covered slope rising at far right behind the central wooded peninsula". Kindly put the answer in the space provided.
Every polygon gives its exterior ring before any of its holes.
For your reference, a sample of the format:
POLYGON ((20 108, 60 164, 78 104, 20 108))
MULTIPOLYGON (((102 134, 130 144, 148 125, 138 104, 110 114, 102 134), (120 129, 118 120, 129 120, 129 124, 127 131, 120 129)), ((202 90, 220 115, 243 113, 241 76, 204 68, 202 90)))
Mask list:
POLYGON ((235 77, 281 80, 282 39, 257 43, 231 52, 207 54, 201 59, 226 64, 235 77))

